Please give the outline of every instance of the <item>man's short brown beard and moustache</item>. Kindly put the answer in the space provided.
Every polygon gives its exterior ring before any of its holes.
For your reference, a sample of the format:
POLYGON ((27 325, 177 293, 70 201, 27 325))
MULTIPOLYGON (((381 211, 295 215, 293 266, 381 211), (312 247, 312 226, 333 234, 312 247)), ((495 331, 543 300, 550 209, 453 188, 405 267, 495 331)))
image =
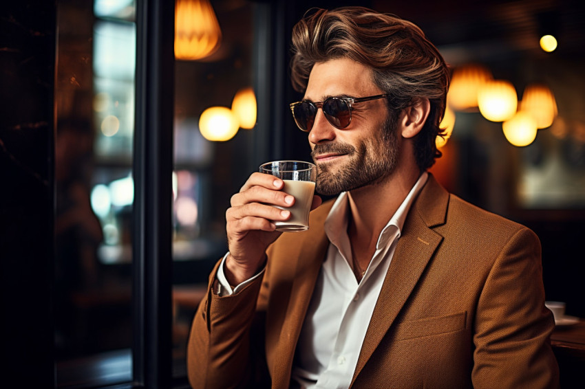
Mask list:
POLYGON ((317 165, 315 190, 326 196, 375 185, 390 176, 398 162, 400 147, 396 134, 396 118, 391 113, 383 122, 380 140, 361 140, 356 146, 346 143, 315 145, 311 156, 323 153, 345 154, 349 161, 342 165, 327 163, 317 165))

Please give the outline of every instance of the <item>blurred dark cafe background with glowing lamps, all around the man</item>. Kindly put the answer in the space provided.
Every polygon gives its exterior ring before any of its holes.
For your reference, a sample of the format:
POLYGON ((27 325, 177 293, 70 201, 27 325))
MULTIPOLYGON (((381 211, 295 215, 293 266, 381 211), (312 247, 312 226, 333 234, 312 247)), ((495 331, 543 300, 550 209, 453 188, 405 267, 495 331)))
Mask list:
POLYGON ((582 1, 26 0, 0 11, 1 386, 188 387, 231 195, 262 162, 310 160, 292 25, 358 4, 449 63, 431 172, 538 234, 546 300, 579 319, 553 333, 561 380, 583 381, 582 1))

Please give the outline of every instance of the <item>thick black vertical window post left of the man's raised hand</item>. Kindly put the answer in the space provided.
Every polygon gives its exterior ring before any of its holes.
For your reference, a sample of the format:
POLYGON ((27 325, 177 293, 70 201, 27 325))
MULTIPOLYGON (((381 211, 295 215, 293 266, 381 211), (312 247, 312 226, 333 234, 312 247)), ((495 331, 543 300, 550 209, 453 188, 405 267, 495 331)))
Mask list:
POLYGON ((136 2, 134 386, 172 381, 174 2, 136 2))

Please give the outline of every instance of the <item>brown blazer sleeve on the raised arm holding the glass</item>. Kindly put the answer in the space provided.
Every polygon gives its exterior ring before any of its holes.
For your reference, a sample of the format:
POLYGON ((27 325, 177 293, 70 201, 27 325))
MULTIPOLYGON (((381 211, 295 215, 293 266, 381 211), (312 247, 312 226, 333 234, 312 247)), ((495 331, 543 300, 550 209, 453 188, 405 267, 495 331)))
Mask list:
POLYGON ((191 324, 187 371, 193 388, 259 388, 266 379, 262 315, 256 302, 262 277, 232 296, 217 296, 211 272, 206 297, 191 324))

